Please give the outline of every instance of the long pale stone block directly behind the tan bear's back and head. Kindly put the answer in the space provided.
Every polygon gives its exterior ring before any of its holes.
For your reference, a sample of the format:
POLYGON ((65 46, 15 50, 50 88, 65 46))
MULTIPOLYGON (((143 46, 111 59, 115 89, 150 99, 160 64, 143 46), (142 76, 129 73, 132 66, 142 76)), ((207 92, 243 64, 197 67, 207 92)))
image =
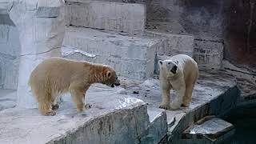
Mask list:
POLYGON ((123 77, 143 80, 153 77, 155 50, 160 46, 162 41, 158 39, 68 26, 62 49, 68 52, 62 52, 62 55, 64 58, 107 64, 123 77))

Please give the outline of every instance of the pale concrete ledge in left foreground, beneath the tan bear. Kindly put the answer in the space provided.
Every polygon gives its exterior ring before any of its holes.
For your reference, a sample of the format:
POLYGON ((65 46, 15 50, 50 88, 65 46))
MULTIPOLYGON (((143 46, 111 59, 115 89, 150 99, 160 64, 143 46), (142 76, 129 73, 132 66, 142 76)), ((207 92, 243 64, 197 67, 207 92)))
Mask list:
POLYGON ((0 143, 138 143, 150 124, 141 100, 102 85, 86 95, 92 108, 81 114, 70 96, 53 117, 37 109, 0 111, 0 143))

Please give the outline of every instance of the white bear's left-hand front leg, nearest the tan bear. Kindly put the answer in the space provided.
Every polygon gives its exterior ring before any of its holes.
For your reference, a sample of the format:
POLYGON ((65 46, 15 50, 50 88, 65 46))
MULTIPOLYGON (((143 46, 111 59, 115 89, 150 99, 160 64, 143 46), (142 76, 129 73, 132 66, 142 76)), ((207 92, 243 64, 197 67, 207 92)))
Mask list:
POLYGON ((161 93, 162 93, 162 103, 160 104, 159 108, 161 109, 170 109, 170 83, 166 80, 160 81, 161 86, 161 93))

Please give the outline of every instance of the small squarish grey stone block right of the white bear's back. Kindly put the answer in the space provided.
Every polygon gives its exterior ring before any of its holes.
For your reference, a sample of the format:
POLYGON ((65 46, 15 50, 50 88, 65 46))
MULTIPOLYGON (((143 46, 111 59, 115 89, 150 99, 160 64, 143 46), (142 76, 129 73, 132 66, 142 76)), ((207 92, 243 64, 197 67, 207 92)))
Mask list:
POLYGON ((194 41, 194 60, 199 68, 220 69, 223 59, 223 43, 196 39, 194 41))

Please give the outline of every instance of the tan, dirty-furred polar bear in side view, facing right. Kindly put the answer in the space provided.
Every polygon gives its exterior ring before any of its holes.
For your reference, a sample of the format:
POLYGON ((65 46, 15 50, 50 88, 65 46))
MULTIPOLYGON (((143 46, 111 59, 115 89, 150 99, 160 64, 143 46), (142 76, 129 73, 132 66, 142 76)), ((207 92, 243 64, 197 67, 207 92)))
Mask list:
POLYGON ((86 90, 96 82, 119 86, 115 71, 106 65, 74 61, 66 58, 48 58, 30 74, 29 85, 43 115, 55 115, 56 99, 70 92, 78 112, 90 108, 86 103, 86 90))

